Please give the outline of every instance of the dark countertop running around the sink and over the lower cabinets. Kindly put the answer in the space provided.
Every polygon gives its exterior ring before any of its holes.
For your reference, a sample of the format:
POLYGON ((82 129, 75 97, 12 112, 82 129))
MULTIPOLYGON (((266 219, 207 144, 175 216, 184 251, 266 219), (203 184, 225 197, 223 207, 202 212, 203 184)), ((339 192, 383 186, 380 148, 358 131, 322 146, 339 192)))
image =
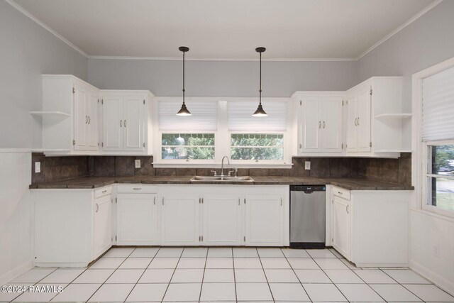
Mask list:
MULTIPOLYGON (((128 177, 80 177, 58 182, 31 184, 31 189, 92 189, 114 183, 122 184, 220 184, 219 182, 191 182, 194 176, 128 176, 128 177)), ((269 184, 269 185, 318 185, 331 184, 350 190, 413 190, 402 184, 365 179, 315 178, 315 177, 252 177, 253 182, 222 182, 221 184, 269 184)))

